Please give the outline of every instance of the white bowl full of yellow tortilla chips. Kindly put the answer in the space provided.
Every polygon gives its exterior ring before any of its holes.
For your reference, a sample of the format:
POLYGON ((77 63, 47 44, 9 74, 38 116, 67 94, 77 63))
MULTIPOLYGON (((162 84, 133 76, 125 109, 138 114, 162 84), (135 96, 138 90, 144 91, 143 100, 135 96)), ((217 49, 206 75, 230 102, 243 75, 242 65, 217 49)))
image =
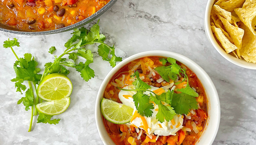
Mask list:
POLYGON ((256 70, 256 0, 209 0, 204 28, 224 58, 256 70))

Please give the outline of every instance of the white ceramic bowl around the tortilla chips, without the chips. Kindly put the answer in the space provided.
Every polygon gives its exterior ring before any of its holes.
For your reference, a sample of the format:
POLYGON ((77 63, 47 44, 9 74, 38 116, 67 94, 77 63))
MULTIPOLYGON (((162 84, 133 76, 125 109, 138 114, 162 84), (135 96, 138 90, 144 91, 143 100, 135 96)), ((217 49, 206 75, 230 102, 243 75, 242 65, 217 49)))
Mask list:
POLYGON ((229 62, 236 64, 240 67, 243 68, 248 68, 248 69, 253 69, 256 70, 256 63, 248 63, 245 60, 239 60, 236 57, 227 54, 225 50, 223 50, 220 45, 217 43, 215 40, 212 29, 211 29, 211 24, 210 24, 210 14, 212 7, 214 5, 215 0, 208 0, 208 3, 206 5, 206 10, 205 10, 205 17, 204 17, 204 30, 207 35, 207 38, 211 42, 211 44, 214 46, 214 48, 222 55, 224 58, 226 58, 229 62))

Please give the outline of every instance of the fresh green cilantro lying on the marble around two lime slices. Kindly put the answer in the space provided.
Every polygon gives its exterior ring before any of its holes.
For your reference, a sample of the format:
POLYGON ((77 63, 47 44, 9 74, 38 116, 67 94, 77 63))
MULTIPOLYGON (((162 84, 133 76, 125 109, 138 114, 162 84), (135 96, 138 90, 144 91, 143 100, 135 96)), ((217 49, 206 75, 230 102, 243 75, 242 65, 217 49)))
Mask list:
MULTIPOLYGON (((37 85, 45 76, 51 73, 68 75, 70 71, 67 70, 67 68, 75 68, 86 82, 95 76, 95 72, 89 67, 89 65, 93 63, 93 53, 90 49, 85 48, 86 45, 99 44, 99 55, 102 56, 103 60, 108 61, 112 67, 116 65, 116 62, 122 61, 121 57, 115 55, 114 46, 111 47, 104 43, 106 36, 99 33, 99 21, 94 24, 90 30, 82 27, 80 29, 75 29, 72 34, 72 37, 64 44, 66 47, 64 52, 59 56, 54 55, 53 62, 44 65, 45 68, 43 74, 39 74, 41 69, 38 68, 38 63, 35 58, 32 57, 32 54, 25 53, 22 58, 17 56, 13 47, 20 47, 20 44, 16 38, 13 40, 8 39, 3 44, 3 47, 10 48, 17 58, 17 61, 14 63, 16 78, 11 80, 12 82, 15 82, 15 87, 17 88, 16 92, 22 94, 22 92, 27 90, 25 97, 19 99, 17 104, 22 103, 25 106, 26 111, 31 109, 29 131, 31 131, 33 116, 38 114, 37 110, 34 109, 35 105, 42 102, 37 93, 37 85), (68 59, 64 58, 65 55, 68 55, 68 59), (82 61, 77 62, 78 57, 81 57, 82 61), (83 61, 83 59, 86 61, 83 61), (29 82, 29 87, 24 84, 24 81, 29 82), (36 96, 34 95, 34 89, 36 91, 36 96)), ((49 49, 49 53, 51 54, 55 51, 56 48, 54 46, 49 49)), ((39 112, 37 123, 58 124, 60 121, 60 119, 51 120, 51 118, 52 116, 39 112)))

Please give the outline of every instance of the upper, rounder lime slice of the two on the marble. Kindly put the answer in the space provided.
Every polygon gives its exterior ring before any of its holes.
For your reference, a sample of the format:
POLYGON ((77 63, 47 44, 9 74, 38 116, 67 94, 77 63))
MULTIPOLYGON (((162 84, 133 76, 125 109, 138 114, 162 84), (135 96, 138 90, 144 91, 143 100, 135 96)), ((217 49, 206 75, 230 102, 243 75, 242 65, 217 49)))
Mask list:
POLYGON ((47 75, 38 85, 38 96, 45 101, 69 97, 72 93, 72 82, 60 73, 47 75))

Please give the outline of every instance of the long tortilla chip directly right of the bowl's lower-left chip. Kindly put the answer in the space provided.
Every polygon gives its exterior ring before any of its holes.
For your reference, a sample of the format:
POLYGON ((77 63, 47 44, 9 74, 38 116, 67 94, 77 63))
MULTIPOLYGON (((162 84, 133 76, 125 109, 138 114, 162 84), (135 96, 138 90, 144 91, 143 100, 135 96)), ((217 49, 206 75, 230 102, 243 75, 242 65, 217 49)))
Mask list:
POLYGON ((222 24, 224 25, 225 29, 227 30, 227 33, 231 37, 233 43, 237 46, 237 48, 238 48, 237 55, 240 58, 239 50, 241 48, 244 30, 239 27, 233 26, 232 24, 230 24, 227 21, 227 19, 225 19, 221 16, 218 16, 218 17, 221 20, 222 24))

